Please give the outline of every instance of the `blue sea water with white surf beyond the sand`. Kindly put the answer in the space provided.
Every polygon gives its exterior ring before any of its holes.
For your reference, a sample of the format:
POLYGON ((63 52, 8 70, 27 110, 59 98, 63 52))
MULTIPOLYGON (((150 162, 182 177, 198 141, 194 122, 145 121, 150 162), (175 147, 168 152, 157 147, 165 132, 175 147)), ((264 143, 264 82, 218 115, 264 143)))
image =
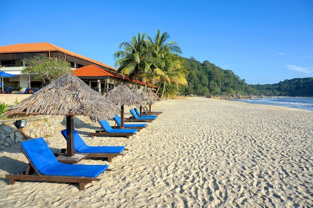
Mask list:
POLYGON ((231 99, 231 101, 279 105, 313 111, 313 97, 265 97, 253 99, 231 99))

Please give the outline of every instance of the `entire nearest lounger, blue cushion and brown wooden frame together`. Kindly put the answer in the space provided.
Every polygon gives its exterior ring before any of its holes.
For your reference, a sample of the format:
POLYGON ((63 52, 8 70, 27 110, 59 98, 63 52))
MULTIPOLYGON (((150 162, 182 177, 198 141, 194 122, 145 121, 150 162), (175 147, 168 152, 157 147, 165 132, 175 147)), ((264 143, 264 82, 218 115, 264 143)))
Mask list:
POLYGON ((84 190, 85 184, 96 178, 108 165, 97 164, 65 164, 57 161, 51 149, 42 137, 23 141, 19 144, 29 164, 24 172, 7 174, 9 184, 16 180, 54 181, 79 183, 79 189, 84 190))

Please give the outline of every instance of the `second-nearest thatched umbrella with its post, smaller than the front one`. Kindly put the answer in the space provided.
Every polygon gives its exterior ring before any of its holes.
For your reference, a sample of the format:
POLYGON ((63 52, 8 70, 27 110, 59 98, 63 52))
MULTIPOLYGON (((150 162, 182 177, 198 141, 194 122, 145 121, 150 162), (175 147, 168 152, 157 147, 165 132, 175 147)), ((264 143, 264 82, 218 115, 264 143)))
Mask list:
POLYGON ((110 90, 105 97, 111 100, 114 104, 119 105, 120 119, 121 119, 121 128, 124 127, 124 105, 133 105, 136 103, 144 104, 145 102, 136 95, 128 86, 123 83, 118 84, 112 90, 110 90))

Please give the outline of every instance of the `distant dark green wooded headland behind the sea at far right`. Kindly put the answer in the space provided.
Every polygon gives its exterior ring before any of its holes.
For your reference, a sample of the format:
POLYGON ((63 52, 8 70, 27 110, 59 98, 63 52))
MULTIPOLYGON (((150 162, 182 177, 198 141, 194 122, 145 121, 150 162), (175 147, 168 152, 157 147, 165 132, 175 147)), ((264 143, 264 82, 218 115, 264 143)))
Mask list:
POLYGON ((276 84, 250 86, 264 96, 313 96, 313 77, 293 78, 276 84))

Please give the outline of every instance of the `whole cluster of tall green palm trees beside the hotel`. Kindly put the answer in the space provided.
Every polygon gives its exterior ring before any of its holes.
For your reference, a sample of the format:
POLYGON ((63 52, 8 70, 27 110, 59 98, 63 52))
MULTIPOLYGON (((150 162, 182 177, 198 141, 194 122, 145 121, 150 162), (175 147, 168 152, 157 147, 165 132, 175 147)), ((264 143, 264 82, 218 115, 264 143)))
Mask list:
POLYGON ((185 78, 187 70, 181 65, 182 58, 177 55, 181 49, 177 42, 167 41, 169 34, 158 29, 152 40, 147 34, 138 33, 132 36, 131 41, 121 42, 119 50, 114 53, 117 73, 129 78, 150 82, 153 85, 163 86, 162 95, 166 83, 187 85, 185 78))

